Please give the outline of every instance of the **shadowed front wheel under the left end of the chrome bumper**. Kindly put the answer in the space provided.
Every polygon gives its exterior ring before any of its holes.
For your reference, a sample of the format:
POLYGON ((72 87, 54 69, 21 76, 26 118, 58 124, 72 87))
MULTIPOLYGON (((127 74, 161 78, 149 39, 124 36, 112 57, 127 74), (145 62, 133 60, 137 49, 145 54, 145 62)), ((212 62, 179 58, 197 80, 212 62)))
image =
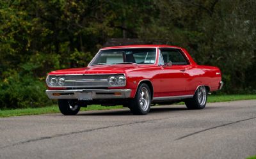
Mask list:
POLYGON ((58 105, 60 112, 66 116, 74 116, 80 110, 77 100, 58 100, 58 105))

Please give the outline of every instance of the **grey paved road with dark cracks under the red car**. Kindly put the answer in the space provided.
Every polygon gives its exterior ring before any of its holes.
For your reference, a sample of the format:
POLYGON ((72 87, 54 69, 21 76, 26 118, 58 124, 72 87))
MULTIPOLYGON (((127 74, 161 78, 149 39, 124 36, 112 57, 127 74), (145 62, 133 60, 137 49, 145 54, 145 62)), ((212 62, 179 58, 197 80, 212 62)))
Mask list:
POLYGON ((246 158, 256 155, 256 100, 0 119, 0 158, 246 158))

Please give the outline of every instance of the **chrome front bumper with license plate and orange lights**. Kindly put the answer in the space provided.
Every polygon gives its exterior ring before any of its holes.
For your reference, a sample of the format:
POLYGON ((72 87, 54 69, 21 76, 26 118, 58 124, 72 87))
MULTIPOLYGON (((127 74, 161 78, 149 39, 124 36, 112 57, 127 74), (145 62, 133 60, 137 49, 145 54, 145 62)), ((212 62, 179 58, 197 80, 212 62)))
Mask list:
POLYGON ((130 98, 131 89, 68 89, 46 90, 50 99, 96 100, 112 98, 130 98))

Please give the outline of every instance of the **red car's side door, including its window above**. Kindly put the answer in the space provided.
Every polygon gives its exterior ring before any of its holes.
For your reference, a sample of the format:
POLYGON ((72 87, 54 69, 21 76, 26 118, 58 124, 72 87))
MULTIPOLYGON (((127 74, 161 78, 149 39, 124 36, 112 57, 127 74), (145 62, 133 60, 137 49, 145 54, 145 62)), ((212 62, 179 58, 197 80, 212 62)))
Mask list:
POLYGON ((159 56, 163 56, 164 65, 160 64, 160 96, 186 95, 188 84, 189 61, 179 49, 160 49, 159 56), (172 65, 168 65, 171 61, 172 65))

